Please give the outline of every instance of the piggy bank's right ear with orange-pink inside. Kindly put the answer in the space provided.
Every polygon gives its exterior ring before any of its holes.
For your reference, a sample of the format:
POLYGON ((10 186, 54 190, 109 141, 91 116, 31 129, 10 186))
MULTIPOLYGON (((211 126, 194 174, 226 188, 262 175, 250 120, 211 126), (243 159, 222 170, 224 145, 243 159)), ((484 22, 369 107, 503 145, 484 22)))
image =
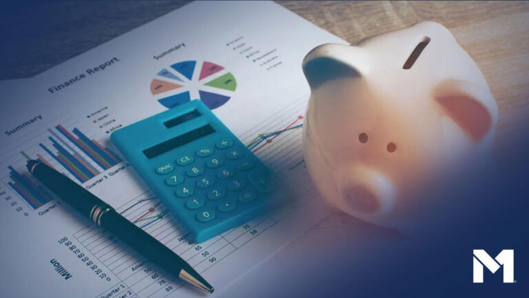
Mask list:
POLYGON ((435 88, 433 98, 443 112, 453 119, 474 142, 480 141, 493 127, 497 106, 488 88, 468 81, 448 80, 435 88))

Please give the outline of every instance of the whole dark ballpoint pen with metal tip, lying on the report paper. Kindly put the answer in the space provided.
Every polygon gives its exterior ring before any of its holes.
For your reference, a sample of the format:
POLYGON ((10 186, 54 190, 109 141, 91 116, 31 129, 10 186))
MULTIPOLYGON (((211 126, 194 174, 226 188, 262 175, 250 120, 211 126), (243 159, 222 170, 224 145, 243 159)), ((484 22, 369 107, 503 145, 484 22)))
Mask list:
POLYGON ((81 215, 111 232, 154 264, 201 290, 213 292, 214 288, 186 261, 91 192, 40 161, 30 160, 26 167, 35 178, 81 215))

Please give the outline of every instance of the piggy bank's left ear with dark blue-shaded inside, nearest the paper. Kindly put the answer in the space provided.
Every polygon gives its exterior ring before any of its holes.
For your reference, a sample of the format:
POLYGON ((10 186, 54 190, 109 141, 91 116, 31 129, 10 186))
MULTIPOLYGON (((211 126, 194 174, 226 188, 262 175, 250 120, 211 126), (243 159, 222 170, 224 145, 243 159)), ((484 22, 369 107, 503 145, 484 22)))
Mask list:
POLYGON ((327 43, 313 48, 303 59, 303 72, 311 89, 322 83, 344 77, 360 77, 355 61, 361 61, 360 48, 327 43))

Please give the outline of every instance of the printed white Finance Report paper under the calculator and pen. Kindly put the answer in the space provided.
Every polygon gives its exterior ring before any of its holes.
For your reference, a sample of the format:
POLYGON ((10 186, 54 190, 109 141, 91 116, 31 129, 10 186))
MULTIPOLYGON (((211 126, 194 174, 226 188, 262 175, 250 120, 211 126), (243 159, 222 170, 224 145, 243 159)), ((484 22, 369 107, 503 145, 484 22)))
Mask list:
MULTIPOLYGON (((301 127, 302 59, 346 43, 271 2, 195 2, 8 90, 0 141, 4 297, 199 297, 32 179, 40 159, 186 259, 222 295, 331 211, 311 186, 301 127), (200 99, 273 170, 295 200, 196 244, 109 137, 200 99)), ((259 285, 256 285, 258 288, 259 285)))

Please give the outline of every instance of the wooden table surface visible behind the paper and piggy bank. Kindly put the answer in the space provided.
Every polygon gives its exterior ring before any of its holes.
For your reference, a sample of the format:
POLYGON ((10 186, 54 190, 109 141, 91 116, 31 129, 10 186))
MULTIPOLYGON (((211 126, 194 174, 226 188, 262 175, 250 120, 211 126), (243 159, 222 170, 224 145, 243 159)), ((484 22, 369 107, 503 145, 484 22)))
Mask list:
MULTIPOLYGON (((20 8, 6 13, 0 19, 0 27, 3 28, 0 30, 4 30, 3 47, 0 50, 4 61, 0 77, 31 77, 185 3, 21 2, 20 8), (21 32, 16 31, 17 25, 31 22, 35 23, 34 26, 22 26, 21 32), (41 34, 35 34, 39 30, 41 34), (14 44, 12 48, 10 42, 14 44)), ((529 137, 523 137, 529 136, 528 1, 278 3, 350 43, 374 34, 406 28, 419 21, 442 23, 475 59, 497 100, 497 162, 506 169, 521 166, 516 155, 501 153, 529 148, 529 137)))

